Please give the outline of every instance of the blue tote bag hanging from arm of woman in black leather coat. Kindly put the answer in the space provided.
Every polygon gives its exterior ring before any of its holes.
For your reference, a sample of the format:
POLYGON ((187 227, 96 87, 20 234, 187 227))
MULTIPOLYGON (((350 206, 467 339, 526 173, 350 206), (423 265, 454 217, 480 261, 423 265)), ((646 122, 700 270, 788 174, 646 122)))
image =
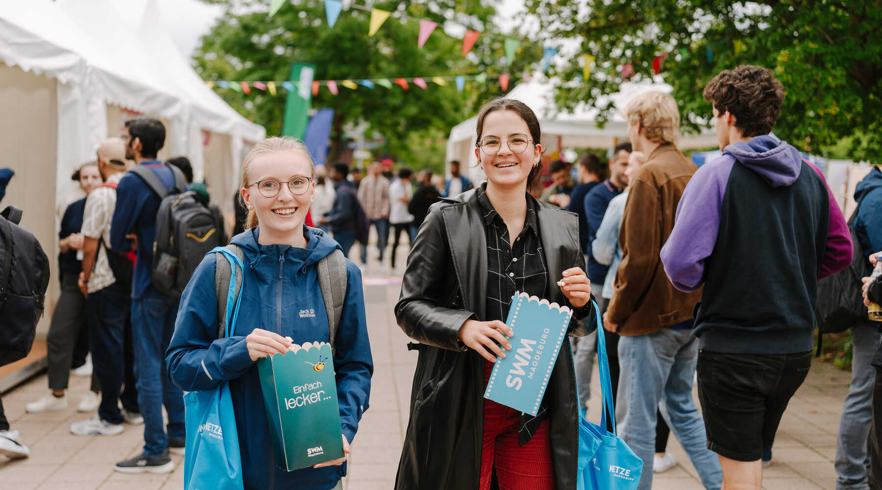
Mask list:
MULTIPOLYGON (((592 301, 593 302, 593 301, 592 301)), ((599 312, 597 303, 594 311, 599 312)), ((616 435, 616 412, 613 410, 609 361, 600 315, 597 315, 597 366, 601 375, 603 410, 601 425, 579 417, 579 472, 576 490, 633 490, 640 482, 643 461, 616 435), (612 432, 606 427, 606 417, 612 432)))

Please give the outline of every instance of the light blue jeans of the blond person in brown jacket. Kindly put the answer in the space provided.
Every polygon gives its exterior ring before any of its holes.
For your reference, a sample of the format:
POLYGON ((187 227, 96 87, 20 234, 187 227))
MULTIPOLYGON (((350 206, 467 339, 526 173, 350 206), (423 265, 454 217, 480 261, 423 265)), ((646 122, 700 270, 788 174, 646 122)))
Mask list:
POLYGON ((616 406, 618 435, 643 460, 639 490, 649 490, 653 485, 655 424, 659 410, 692 460, 704 486, 714 490, 722 485, 720 459, 707 449, 705 423, 692 400, 698 353, 699 340, 688 329, 664 329, 619 338, 618 359, 622 372, 616 406))

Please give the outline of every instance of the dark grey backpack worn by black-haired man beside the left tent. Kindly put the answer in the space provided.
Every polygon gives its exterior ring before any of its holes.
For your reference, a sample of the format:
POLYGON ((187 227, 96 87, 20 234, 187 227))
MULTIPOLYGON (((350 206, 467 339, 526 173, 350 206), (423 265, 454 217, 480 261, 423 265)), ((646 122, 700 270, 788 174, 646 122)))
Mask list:
POLYGON ((172 298, 180 298, 202 258, 215 247, 227 244, 221 212, 216 206, 199 202, 196 192, 177 167, 166 164, 175 174, 175 186, 166 189, 146 167, 135 167, 138 176, 162 198, 156 212, 156 237, 153 240, 153 286, 172 298))

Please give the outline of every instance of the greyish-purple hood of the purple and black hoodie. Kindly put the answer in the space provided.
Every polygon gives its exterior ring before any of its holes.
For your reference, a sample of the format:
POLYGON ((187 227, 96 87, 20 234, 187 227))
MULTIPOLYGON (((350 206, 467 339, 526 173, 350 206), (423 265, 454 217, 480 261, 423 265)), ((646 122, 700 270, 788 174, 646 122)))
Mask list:
POLYGON ((796 182, 803 168, 799 150, 786 141, 777 141, 767 135, 751 137, 746 143, 738 141, 723 149, 725 153, 759 174, 772 187, 789 186, 796 182))

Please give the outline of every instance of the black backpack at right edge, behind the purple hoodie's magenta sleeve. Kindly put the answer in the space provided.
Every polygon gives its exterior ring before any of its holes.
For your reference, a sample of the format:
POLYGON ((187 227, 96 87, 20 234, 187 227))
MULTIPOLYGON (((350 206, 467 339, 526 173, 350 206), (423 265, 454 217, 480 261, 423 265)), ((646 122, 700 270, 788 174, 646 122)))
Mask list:
MULTIPOLYGON (((863 201, 863 198, 861 200, 863 201)), ((857 240, 854 224, 860 209, 861 201, 858 201, 855 212, 848 219, 848 231, 851 233, 851 243, 855 247, 851 264, 842 271, 818 281, 818 301, 815 303, 815 316, 818 318, 816 356, 821 353, 823 334, 848 330, 867 319, 867 308, 863 306, 861 278, 870 275, 870 268, 861 248, 861 242, 857 240)))

